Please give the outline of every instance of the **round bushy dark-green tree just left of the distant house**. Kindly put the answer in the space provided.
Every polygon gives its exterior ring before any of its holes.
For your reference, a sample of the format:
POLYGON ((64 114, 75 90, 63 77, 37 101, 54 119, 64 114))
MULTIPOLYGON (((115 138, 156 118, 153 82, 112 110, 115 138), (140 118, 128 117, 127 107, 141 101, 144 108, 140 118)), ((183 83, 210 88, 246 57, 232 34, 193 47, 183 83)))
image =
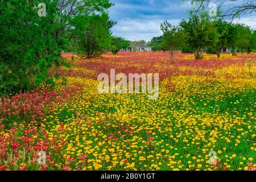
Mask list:
POLYGON ((77 52, 88 59, 100 56, 111 48, 112 36, 108 14, 77 17, 73 20, 76 28, 77 52))

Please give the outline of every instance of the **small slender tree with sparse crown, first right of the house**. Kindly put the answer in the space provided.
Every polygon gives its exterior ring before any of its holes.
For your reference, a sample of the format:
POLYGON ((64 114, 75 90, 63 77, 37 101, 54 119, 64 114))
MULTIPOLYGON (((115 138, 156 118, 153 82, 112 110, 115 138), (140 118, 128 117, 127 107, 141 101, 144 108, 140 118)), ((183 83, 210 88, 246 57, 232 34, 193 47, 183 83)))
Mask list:
POLYGON ((163 31, 162 45, 170 51, 170 59, 174 59, 177 51, 182 47, 183 36, 180 28, 173 26, 171 23, 164 21, 160 26, 163 31))

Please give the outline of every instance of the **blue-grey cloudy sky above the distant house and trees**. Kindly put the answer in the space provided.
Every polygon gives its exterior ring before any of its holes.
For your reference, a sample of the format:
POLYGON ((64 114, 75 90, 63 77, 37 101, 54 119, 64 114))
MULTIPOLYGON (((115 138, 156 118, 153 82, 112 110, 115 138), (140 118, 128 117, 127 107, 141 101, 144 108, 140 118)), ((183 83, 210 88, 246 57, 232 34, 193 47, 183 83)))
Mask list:
MULTIPOLYGON (((164 20, 178 24, 181 19, 188 18, 191 9, 189 1, 181 0, 110 0, 115 4, 110 11, 110 19, 118 23, 112 28, 113 35, 128 40, 151 40, 162 35, 160 23, 164 20)), ((239 1, 243 0, 238 0, 239 1)), ((233 1, 234 2, 234 1, 233 1)), ((210 9, 210 8, 209 8, 210 9)), ((243 16, 240 23, 256 28, 255 14, 243 16)))

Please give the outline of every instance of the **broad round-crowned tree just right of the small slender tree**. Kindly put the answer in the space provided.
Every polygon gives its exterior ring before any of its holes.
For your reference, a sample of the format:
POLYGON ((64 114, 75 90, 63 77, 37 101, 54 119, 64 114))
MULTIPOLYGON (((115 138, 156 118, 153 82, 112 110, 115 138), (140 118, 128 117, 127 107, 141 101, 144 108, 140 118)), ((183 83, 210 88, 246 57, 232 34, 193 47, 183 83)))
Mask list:
POLYGON ((214 46, 218 41, 217 28, 208 16, 191 14, 188 20, 180 22, 186 46, 193 51, 195 59, 201 59, 202 48, 214 46))

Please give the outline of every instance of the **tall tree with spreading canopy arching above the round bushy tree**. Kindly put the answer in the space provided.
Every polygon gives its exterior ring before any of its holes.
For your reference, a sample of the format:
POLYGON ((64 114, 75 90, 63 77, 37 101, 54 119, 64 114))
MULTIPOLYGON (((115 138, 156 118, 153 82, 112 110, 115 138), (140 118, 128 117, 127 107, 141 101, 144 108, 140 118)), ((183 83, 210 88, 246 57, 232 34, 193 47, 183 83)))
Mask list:
MULTIPOLYGON (((72 20, 77 17, 90 16, 93 14, 104 14, 113 6, 109 0, 30 0, 35 5, 45 3, 47 16, 51 17, 51 30, 48 34, 55 39, 57 47, 66 49, 68 42, 74 38, 75 31, 71 26, 72 20), (35 3, 36 2, 36 3, 35 3)), ((60 53, 56 56, 60 57, 60 53)), ((56 60, 56 65, 59 61, 56 60)))

